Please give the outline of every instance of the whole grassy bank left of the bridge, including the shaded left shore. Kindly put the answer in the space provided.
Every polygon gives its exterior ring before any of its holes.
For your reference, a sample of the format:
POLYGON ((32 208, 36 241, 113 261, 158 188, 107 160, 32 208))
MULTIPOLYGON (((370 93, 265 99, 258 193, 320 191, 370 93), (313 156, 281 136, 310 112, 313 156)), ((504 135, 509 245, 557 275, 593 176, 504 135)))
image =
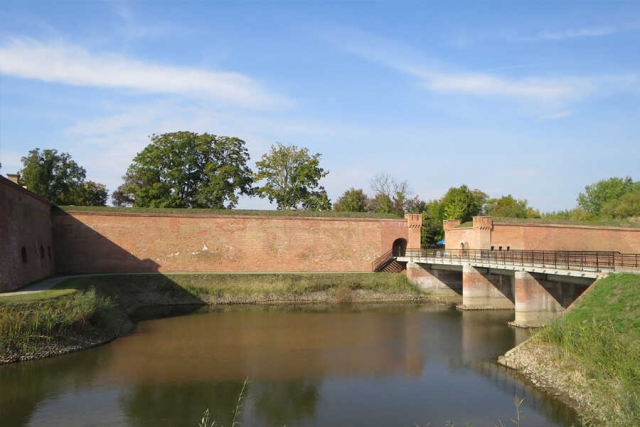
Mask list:
POLYGON ((110 341, 142 307, 177 304, 414 300, 406 276, 344 274, 142 274, 79 277, 36 294, 0 298, 0 363, 110 341))

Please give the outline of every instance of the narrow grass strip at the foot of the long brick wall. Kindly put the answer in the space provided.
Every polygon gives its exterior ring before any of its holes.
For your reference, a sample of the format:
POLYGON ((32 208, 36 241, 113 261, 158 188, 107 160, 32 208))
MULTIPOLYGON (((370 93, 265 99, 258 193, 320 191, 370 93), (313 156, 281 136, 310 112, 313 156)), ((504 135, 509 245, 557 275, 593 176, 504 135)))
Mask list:
POLYGON ((95 287, 130 311, 144 305, 301 301, 317 293, 350 301, 358 290, 385 295, 421 295, 403 274, 393 273, 220 273, 142 274, 80 277, 65 282, 95 287))

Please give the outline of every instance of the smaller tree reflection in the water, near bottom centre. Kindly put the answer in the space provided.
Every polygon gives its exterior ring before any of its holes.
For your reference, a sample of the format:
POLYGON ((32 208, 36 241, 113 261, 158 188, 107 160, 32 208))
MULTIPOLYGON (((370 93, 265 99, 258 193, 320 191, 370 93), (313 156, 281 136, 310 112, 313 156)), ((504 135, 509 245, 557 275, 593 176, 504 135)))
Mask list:
POLYGON ((266 381, 253 384, 256 418, 269 426, 300 424, 312 420, 318 403, 319 381, 266 381))

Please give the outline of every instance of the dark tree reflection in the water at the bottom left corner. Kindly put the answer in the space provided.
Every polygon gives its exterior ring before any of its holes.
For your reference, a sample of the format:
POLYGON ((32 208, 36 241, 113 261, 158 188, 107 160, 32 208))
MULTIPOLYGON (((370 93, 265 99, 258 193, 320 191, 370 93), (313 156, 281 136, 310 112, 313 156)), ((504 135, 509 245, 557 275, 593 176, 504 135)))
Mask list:
POLYGON ((93 380, 99 349, 63 357, 0 366, 0 425, 24 426, 41 402, 93 380))

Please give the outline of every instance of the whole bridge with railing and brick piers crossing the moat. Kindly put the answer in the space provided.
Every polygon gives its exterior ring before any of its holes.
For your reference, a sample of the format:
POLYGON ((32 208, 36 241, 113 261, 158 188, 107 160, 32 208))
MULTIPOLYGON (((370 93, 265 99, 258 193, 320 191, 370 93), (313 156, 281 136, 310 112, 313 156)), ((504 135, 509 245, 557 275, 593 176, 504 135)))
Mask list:
POLYGON ((462 310, 515 310, 514 325, 544 324, 599 277, 640 272, 639 254, 615 251, 406 249, 384 254, 374 271, 398 270, 433 295, 462 295, 462 310), (394 267, 395 266, 395 267, 394 267))

